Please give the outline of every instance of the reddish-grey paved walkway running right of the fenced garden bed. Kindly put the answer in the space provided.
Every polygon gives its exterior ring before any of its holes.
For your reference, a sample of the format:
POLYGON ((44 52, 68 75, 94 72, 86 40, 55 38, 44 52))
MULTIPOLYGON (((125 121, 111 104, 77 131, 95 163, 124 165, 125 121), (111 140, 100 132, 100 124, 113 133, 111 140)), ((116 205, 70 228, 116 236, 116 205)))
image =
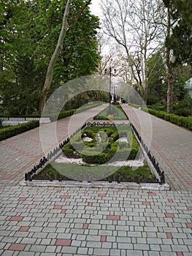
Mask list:
POLYGON ((192 191, 192 132, 128 105, 123 109, 145 143, 152 138, 150 151, 171 188, 192 191))

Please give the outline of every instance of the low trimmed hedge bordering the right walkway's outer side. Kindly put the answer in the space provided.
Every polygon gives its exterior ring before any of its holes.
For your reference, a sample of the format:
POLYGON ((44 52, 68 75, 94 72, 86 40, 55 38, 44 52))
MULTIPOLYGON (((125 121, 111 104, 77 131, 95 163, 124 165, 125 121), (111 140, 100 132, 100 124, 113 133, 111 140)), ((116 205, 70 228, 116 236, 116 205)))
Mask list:
POLYGON ((176 116, 174 114, 169 114, 164 111, 152 110, 150 108, 148 108, 148 111, 153 116, 157 116, 158 118, 162 118, 166 121, 171 122, 172 124, 177 124, 180 127, 184 127, 184 128, 190 129, 192 131, 192 119, 191 118, 183 117, 183 116, 176 116))

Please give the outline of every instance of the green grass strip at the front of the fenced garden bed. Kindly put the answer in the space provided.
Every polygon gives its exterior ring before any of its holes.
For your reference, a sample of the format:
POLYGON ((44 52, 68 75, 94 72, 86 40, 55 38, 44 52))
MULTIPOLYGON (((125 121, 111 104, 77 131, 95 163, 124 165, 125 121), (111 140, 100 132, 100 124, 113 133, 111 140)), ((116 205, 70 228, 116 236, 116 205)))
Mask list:
POLYGON ((33 176, 34 180, 60 180, 60 181, 119 181, 119 182, 158 182, 155 175, 145 164, 134 170, 129 166, 122 166, 117 170, 115 166, 83 166, 66 163, 53 163, 47 165, 39 174, 33 176))

